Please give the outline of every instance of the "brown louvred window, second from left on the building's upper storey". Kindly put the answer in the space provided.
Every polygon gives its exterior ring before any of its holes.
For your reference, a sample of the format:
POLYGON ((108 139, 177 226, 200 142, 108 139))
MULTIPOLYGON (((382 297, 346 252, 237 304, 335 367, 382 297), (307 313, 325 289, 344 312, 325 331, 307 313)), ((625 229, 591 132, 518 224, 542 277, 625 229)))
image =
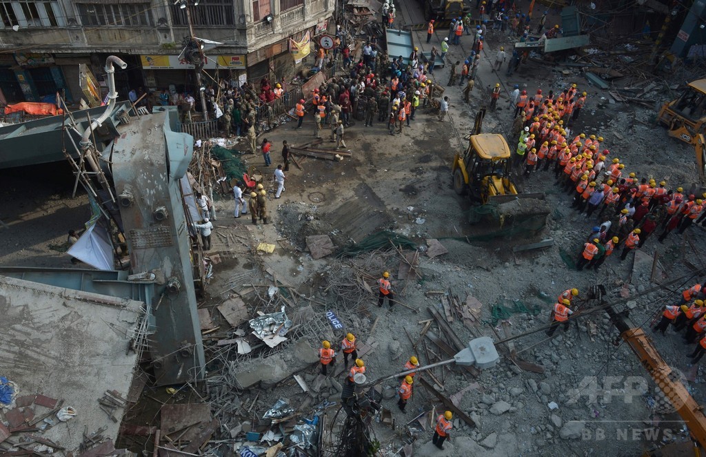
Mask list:
POLYGON ((136 4, 78 4, 83 25, 114 25, 116 27, 145 27, 154 25, 149 3, 136 4))

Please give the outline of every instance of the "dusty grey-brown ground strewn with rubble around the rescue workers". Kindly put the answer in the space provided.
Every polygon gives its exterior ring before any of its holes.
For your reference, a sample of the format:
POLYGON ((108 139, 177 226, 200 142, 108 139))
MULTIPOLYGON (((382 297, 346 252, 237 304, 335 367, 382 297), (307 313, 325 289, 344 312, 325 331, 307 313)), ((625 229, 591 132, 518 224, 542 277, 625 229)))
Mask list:
MULTIPOLYGON (((443 35, 438 33, 438 37, 443 35)), ((465 51, 452 47, 449 58, 463 60, 469 47, 468 40, 469 37, 463 37, 465 51)), ((497 47, 505 45, 508 49, 509 43, 506 37, 490 33, 486 40, 486 56, 494 59, 497 47)), ((428 50, 429 45, 424 43, 421 47, 428 50)), ((438 69, 435 76, 441 83, 447 82, 448 66, 438 69)), ((658 308, 673 302, 677 294, 655 291, 638 296, 655 284, 650 282, 651 264, 646 268, 637 267, 633 273, 633 255, 624 262, 618 262, 614 255, 598 273, 570 270, 561 260, 560 250, 575 255, 594 221, 577 216, 569 208, 570 197, 554 187, 553 175, 537 173, 529 180, 520 180, 523 190, 545 192, 548 201, 555 207, 543 233, 530 239, 498 239, 489 243, 468 244, 454 239, 474 233, 477 228, 466 222, 470 202, 457 197, 450 187, 450 161, 454 151, 465 146, 461 137, 472 126, 477 108, 481 103, 486 103, 481 96, 482 88, 489 87, 495 81, 498 81, 497 76, 491 73, 489 61, 486 60, 481 66, 472 103, 462 101, 460 87, 447 88, 446 94, 452 103, 452 122, 440 123, 433 113, 422 110, 412 127, 395 137, 388 135, 384 125, 363 127, 361 122, 356 122, 346 133, 346 142, 352 151, 351 159, 341 163, 300 159, 303 170, 296 166, 290 168, 287 190, 282 199, 270 200, 274 224, 253 226, 247 218, 234 221, 232 201, 217 202, 220 209, 217 225, 223 227, 222 231, 239 233, 242 242, 234 246, 214 240, 214 250, 232 259, 217 266, 210 296, 203 306, 220 303, 234 277, 237 277, 236 282, 271 283, 274 273, 281 284, 297 287, 299 293, 313 298, 311 304, 318 317, 312 328, 323 330, 323 333, 314 335, 304 332, 312 344, 320 338, 332 341, 342 338, 342 334, 334 334, 325 325, 323 313, 328 309, 335 310, 345 321, 347 329, 352 330, 361 341, 374 340, 378 343, 376 351, 365 358, 369 374, 373 377, 400 370, 412 354, 425 361, 426 357, 421 351, 412 349, 405 330, 416 340, 422 328, 418 321, 429 318, 426 307, 438 306, 438 296, 427 297, 426 291, 451 288, 462 300, 472 295, 483 303, 481 324, 467 328, 458 321, 453 323, 455 332, 462 340, 470 340, 476 335, 488 335, 498 340, 498 335, 503 335, 503 331, 499 324, 495 328, 491 325, 491 306, 503 299, 520 300, 528 307, 542 308, 538 316, 517 313, 509 319, 513 333, 519 334, 544 325, 549 318, 551 303, 542 299, 541 293, 552 300, 564 289, 578 287, 585 291, 593 284, 604 284, 609 300, 621 299, 619 293, 625 285, 629 294, 627 298, 630 299, 627 306, 633 308, 630 316, 647 330, 658 308), (311 234, 328 233, 337 245, 349 242, 349 233, 353 233, 355 227, 337 225, 336 220, 348 207, 350 211, 370 212, 371 217, 386 221, 384 228, 392 228, 409 236, 419 245, 425 245, 425 238, 438 238, 448 248, 448 254, 432 260, 420 255, 421 279, 409 284, 394 283, 397 291, 404 289, 404 293, 399 294, 399 300, 412 308, 421 309, 421 313, 412 313, 402 306, 378 308, 372 296, 359 309, 348 309, 346 299, 351 296, 337 296, 335 289, 330 288, 331 284, 342 282, 343 278, 335 277, 335 274, 342 271, 342 265, 348 260, 333 257, 313 260, 304 251, 304 238, 311 234), (417 224, 416 221, 421 219, 424 223, 417 224), (513 255, 510 249, 513 245, 542 238, 553 238, 555 243, 545 250, 518 255, 513 255), (277 245, 275 253, 255 253, 254 247, 262 241, 277 245), (317 302, 325 302, 326 306, 317 302), (371 332, 376 320, 378 323, 371 332)), ((532 92, 535 88, 558 91, 569 83, 578 83, 580 90, 589 93, 589 101, 588 108, 575 125, 577 132, 602 134, 612 156, 623 159, 626 168, 640 176, 652 176, 657 180, 664 178, 671 187, 681 185, 685 189, 696 182, 693 151, 667 137, 661 127, 652 128, 655 110, 611 103, 606 91, 588 86, 578 74, 567 77, 551 67, 534 63, 523 66, 509 80, 504 77, 503 67, 499 81, 510 89, 514 83, 524 83, 532 92)), ((660 93, 655 91, 648 95, 659 100, 660 93)), ((507 98, 501 98, 498 105, 501 109, 486 117, 486 132, 509 131, 512 112, 506 108, 507 98)), ((310 141, 313 137, 311 125, 311 120, 307 120, 304 129, 294 131, 290 123, 268 134, 268 139, 277 145, 273 154, 275 164, 281 141, 287 139, 290 144, 310 141)), ((259 157, 246 158, 250 163, 261 165, 259 157)), ((4 170, 0 178, 4 183, 2 192, 6 202, 0 209, 0 219, 9 226, 9 229, 0 228, 0 264, 70 265, 66 255, 51 250, 50 245, 63 243, 66 231, 80 227, 88 219, 89 212, 85 197, 70 198, 73 180, 68 167, 38 171, 4 170)), ((683 263, 685 255, 702 267, 702 237, 701 228, 690 228, 686 238, 693 241, 693 248, 685 242, 685 237, 671 235, 664 245, 657 243, 656 237, 653 237, 641 252, 651 257, 659 250, 664 274, 674 279, 691 272, 683 263)), ((386 255, 378 262, 369 255, 363 255, 358 271, 363 270, 374 278, 381 270, 389 269, 394 275, 398 263, 399 258, 395 255, 386 255)), ((671 288, 682 289, 683 285, 691 285, 695 281, 692 278, 686 284, 677 283, 671 288)), ((368 282, 372 284, 372 280, 368 282)), ((255 305, 257 300, 250 294, 246 301, 249 305, 255 305)), ((301 306, 306 300, 300 297, 297 303, 301 306)), ((620 306, 624 307, 626 304, 620 306)), ((267 310, 266 307, 264 309, 267 310)), ((432 331, 438 334, 435 325, 432 331)), ((706 394, 706 378, 698 367, 690 367, 686 363, 685 353, 692 348, 684 346, 679 335, 672 332, 667 335, 654 337, 657 349, 674 369, 683 374, 695 399, 702 401, 706 394)), ((419 439, 414 442, 415 455, 635 455, 653 446, 654 441, 645 439, 644 434, 640 433, 649 429, 650 425, 669 430, 659 435, 657 441, 663 436, 667 442, 683 440, 685 434, 678 416, 661 415, 652 409, 655 403, 659 406, 664 402, 655 395, 654 383, 630 349, 624 344, 617 347, 612 344, 616 337, 618 333, 607 316, 597 314, 582 320, 578 328, 572 328, 566 335, 556 337, 551 342, 543 341, 543 332, 514 341, 518 350, 531 347, 522 352, 522 357, 542 365, 544 374, 522 371, 514 366, 505 357, 504 345, 499 347, 501 361, 498 366, 482 371, 477 379, 465 379, 457 370, 436 371, 445 395, 452 395, 469 383, 477 383, 460 402, 462 410, 476 421, 477 426, 471 428, 455 422, 455 439, 445 445, 447 449, 443 453, 430 447, 431 432, 427 426, 427 430, 419 432, 419 439), (587 323, 588 320, 592 324, 587 323), (595 379, 594 384, 588 382, 592 379, 595 379), (630 386, 638 388, 630 390, 630 386), (588 395, 593 392, 597 395, 588 395), (578 401, 571 401, 577 393, 578 401), (550 402, 555 402, 558 409, 550 410, 550 402)), ((304 375, 310 385, 316 377, 315 371, 312 367, 304 375)), ((337 381, 342 382, 342 376, 337 381)), ((396 388, 397 381, 383 386, 396 388)), ((335 386, 327 385, 316 400, 335 400, 336 395, 335 386)), ((254 392, 246 392, 241 395, 242 403, 247 405, 248 400, 252 401, 254 397, 254 392)), ((263 391, 254 412, 262 414, 280 397, 292 399, 294 405, 303 401, 296 384, 282 385, 263 391)), ((438 404, 423 388, 417 388, 406 415, 397 411, 395 400, 385 400, 383 403, 384 407, 393 411, 398 425, 431 410, 432 405, 437 405, 438 410, 438 404)), ((416 428, 419 429, 419 424, 416 428)), ((381 424, 373 424, 373 431, 388 450, 397 451, 405 441, 381 424)))

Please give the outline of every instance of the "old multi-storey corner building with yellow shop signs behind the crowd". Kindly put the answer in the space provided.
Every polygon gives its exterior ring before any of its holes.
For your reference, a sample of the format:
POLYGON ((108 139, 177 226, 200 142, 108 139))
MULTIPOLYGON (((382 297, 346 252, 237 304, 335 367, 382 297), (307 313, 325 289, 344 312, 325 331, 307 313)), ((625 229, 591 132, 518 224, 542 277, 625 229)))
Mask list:
POLYGON ((189 16, 193 35, 222 43, 205 53, 211 76, 280 79, 301 62, 294 42, 327 28, 334 1, 0 0, 0 104, 61 89, 77 103, 79 64, 100 80, 108 54, 128 63, 116 72, 122 96, 138 86, 194 90, 193 66, 179 60, 189 16))

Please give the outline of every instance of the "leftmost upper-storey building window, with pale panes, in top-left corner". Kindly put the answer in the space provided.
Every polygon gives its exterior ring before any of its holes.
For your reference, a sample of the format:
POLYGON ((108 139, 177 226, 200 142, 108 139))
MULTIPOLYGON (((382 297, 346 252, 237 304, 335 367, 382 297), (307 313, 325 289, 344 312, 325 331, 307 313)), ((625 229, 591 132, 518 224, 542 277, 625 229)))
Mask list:
POLYGON ((0 1, 0 28, 66 25, 58 0, 0 1))

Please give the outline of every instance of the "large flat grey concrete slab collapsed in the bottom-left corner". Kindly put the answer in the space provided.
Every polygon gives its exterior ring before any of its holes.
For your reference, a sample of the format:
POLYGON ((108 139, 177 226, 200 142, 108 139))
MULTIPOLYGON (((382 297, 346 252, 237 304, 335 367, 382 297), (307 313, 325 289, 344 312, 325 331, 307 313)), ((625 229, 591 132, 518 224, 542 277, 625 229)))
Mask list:
POLYGON ((123 410, 114 411, 118 422, 112 422, 97 399, 105 391, 126 398, 138 361, 138 354, 126 354, 126 348, 138 332, 142 306, 139 301, 0 276, 2 375, 16 383, 20 393, 46 395, 35 399, 37 418, 52 411, 53 399, 76 410, 76 417, 42 433, 44 439, 73 451, 85 430, 107 427, 103 436, 118 435, 123 410))

